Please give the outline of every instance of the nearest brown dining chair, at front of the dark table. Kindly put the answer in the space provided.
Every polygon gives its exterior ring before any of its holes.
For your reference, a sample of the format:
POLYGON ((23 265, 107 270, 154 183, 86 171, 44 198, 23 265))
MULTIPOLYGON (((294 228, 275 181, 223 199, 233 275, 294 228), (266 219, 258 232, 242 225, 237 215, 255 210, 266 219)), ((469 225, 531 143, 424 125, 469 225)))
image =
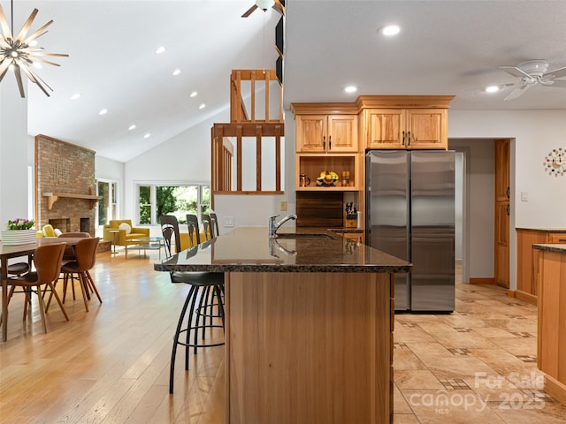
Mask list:
POLYGON ((65 243, 38 246, 34 251, 35 271, 30 271, 23 276, 11 277, 8 279, 8 285, 10 286, 8 303, 10 303, 16 287, 20 287, 22 292, 26 295, 24 304, 24 320, 26 320, 27 305, 31 304, 31 293, 34 292, 37 294, 39 309, 42 315, 43 332, 45 333, 47 333, 47 322, 45 320, 47 308, 45 307, 43 297, 48 289, 51 292, 51 296, 55 296, 55 299, 57 299, 61 312, 65 315, 65 320, 69 321, 69 316, 65 311, 65 307, 63 307, 63 303, 55 291, 55 282, 61 272, 61 261, 63 260, 65 246, 65 243), (44 286, 43 291, 42 286, 44 286))

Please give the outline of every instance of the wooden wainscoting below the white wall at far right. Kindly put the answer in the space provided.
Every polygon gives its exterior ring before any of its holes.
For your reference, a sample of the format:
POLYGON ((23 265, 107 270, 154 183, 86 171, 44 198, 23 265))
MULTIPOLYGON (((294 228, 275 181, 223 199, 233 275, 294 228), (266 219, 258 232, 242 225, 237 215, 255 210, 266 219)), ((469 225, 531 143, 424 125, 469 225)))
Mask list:
POLYGON ((537 304, 539 296, 539 250, 532 245, 566 243, 566 229, 523 229, 516 230, 516 298, 537 304))

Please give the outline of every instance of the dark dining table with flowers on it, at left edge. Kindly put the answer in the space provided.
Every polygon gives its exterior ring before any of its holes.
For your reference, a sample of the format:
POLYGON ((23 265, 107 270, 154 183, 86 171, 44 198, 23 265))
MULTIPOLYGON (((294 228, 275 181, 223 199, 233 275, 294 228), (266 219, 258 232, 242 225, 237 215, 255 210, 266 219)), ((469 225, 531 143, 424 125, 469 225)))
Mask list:
POLYGON ((80 240, 84 238, 70 237, 70 238, 57 238, 45 237, 36 239, 34 243, 26 245, 5 246, 0 243, 0 265, 1 265, 1 278, 2 278, 2 341, 5 342, 8 338, 8 260, 11 258, 18 258, 27 256, 29 261, 34 256, 35 249, 39 246, 52 245, 54 243, 65 243, 67 246, 75 246, 80 240))

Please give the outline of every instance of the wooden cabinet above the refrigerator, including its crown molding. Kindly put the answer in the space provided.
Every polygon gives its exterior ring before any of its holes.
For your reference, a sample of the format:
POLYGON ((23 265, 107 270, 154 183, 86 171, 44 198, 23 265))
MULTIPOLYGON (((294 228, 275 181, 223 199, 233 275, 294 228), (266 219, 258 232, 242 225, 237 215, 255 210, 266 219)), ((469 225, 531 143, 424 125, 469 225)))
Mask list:
POLYGON ((447 149, 453 96, 360 96, 365 148, 447 149))

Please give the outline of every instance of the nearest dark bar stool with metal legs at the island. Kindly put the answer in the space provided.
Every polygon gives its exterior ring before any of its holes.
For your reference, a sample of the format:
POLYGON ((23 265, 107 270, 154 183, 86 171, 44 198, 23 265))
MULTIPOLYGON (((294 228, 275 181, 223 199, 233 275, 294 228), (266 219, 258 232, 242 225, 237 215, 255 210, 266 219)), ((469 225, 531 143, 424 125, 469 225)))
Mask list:
MULTIPOLYGON (((160 216, 161 231, 164 238, 165 254, 167 258, 173 255, 172 245, 173 238, 175 245, 180 237, 179 222, 176 216, 160 216)), ((193 226, 194 224, 189 224, 193 226)), ((198 226, 193 227, 198 232, 198 226)), ((189 230, 190 231, 190 230, 189 230)), ((190 238, 192 240, 192 238, 190 238)), ((189 249, 182 251, 182 254, 187 256, 194 255, 198 250, 199 245, 191 246, 189 249)), ((179 251, 177 251, 179 254, 179 251)), ((206 330, 212 328, 222 328, 224 331, 224 305, 218 302, 218 317, 221 324, 213 322, 206 322, 206 316, 203 311, 206 311, 209 301, 210 291, 215 293, 218 299, 222 299, 222 292, 224 291, 224 273, 222 272, 187 272, 187 271, 172 271, 170 273, 171 282, 174 284, 188 284, 189 291, 185 303, 181 308, 179 321, 177 322, 177 329, 173 337, 173 347, 171 354, 171 366, 169 374, 169 393, 173 392, 174 372, 175 372, 175 358, 177 356, 177 347, 179 345, 185 346, 185 369, 188 370, 188 352, 192 347, 193 352, 196 354, 199 347, 212 347, 221 346, 225 342, 205 342, 206 330), (187 312, 188 311, 188 312, 187 312), (183 327, 183 323, 187 322, 183 327), (201 339, 199 340, 199 330, 201 339), (185 334, 185 340, 181 341, 181 336, 185 334), (191 340, 192 338, 192 340, 191 340)))

